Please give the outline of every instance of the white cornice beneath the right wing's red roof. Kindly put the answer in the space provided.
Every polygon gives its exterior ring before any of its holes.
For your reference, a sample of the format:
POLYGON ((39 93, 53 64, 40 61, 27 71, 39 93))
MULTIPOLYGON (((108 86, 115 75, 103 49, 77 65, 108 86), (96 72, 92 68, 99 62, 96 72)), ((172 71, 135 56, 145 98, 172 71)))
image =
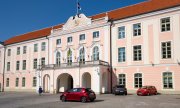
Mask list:
POLYGON ((142 15, 136 15, 136 16, 132 16, 132 17, 129 17, 129 18, 119 19, 119 20, 114 21, 114 24, 122 23, 122 22, 128 22, 128 21, 142 19, 142 18, 147 18, 147 17, 160 15, 160 14, 165 14, 165 13, 170 13, 170 12, 174 12, 174 11, 180 11, 180 6, 173 7, 173 8, 170 8, 170 9, 164 9, 164 10, 159 10, 159 11, 155 11, 155 12, 145 13, 145 14, 142 14, 142 15))

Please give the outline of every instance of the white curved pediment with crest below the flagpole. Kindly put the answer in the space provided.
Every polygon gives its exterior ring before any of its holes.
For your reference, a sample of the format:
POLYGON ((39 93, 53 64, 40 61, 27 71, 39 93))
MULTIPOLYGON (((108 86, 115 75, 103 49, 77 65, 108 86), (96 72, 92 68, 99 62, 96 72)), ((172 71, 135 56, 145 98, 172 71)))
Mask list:
POLYGON ((84 14, 71 16, 68 19, 68 21, 64 24, 63 30, 71 30, 76 27, 90 25, 91 22, 91 18, 86 17, 84 14))

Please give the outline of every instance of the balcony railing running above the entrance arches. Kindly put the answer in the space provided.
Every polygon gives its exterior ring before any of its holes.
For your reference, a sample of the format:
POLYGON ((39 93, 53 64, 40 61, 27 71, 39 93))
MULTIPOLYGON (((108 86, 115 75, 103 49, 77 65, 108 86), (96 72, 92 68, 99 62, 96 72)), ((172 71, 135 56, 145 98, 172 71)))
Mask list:
POLYGON ((97 61, 82 61, 82 62, 72 62, 72 63, 61 63, 61 64, 49 64, 39 66, 39 69, 59 69, 59 68, 74 68, 74 67, 89 67, 89 66, 109 66, 108 62, 97 60, 97 61))

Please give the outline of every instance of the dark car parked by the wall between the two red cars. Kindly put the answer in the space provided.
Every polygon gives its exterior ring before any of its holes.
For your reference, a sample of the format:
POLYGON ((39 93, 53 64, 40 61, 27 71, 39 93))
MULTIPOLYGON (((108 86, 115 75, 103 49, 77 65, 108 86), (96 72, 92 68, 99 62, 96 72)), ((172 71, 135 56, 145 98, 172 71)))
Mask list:
POLYGON ((124 85, 116 85, 113 87, 113 94, 114 95, 127 95, 127 89, 124 85))

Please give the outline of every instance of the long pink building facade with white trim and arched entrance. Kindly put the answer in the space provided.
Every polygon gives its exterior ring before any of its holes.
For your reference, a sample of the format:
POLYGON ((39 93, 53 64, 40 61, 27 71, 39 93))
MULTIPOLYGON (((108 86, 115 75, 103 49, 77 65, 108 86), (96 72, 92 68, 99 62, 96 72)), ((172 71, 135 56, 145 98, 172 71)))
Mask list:
POLYGON ((129 93, 154 85, 160 93, 180 94, 179 5, 125 15, 80 14, 42 36, 34 31, 27 37, 36 38, 6 41, 0 45, 0 90, 37 91, 42 86, 44 92, 58 93, 88 87, 99 94, 121 84, 129 93))

